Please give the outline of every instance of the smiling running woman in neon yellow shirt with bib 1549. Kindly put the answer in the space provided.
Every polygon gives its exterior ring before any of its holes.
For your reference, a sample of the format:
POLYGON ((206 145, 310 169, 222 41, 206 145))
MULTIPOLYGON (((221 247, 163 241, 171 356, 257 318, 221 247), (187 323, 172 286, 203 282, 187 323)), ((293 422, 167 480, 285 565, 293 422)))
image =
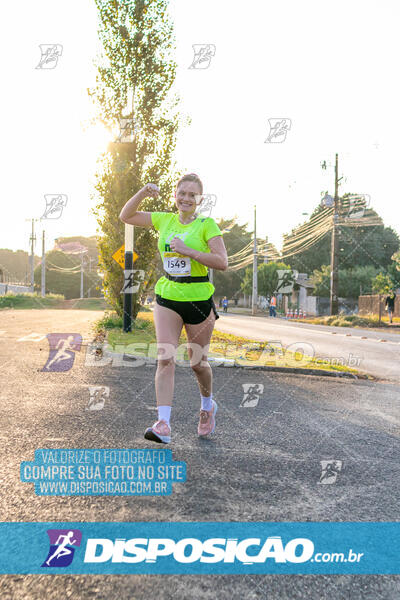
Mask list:
POLYGON ((195 214, 196 198, 203 184, 194 173, 184 175, 176 186, 175 212, 141 212, 145 198, 157 198, 158 187, 148 183, 125 204, 120 213, 124 223, 154 227, 159 232, 158 249, 165 275, 156 284, 154 323, 157 336, 155 388, 158 421, 144 437, 158 443, 171 441, 171 407, 175 383, 175 356, 182 327, 188 338, 188 354, 200 390, 201 408, 198 435, 215 429, 217 403, 212 396, 212 369, 207 360, 208 346, 216 319, 214 286, 208 267, 225 271, 228 257, 218 225, 211 217, 195 214), (162 352, 161 352, 162 351, 162 352))

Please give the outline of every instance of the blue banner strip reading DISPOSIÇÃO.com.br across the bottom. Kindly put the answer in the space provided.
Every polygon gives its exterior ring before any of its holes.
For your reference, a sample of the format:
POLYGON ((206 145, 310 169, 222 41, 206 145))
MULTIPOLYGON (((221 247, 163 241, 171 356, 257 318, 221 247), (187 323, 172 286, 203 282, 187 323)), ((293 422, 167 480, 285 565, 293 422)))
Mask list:
POLYGON ((5 574, 400 574, 400 523, 0 523, 5 574))

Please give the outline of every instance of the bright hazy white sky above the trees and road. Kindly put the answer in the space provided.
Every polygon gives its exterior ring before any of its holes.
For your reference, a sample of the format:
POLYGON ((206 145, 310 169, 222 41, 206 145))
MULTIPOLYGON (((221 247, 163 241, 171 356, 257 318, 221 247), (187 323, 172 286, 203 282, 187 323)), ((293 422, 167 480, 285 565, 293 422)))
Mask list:
MULTIPOLYGON (((400 98, 398 2, 387 0, 171 0, 181 110, 192 124, 179 134, 176 159, 217 196, 215 218, 253 221, 258 235, 281 236, 311 213, 321 191, 369 194, 371 206, 400 233, 397 199, 400 98), (189 69, 193 44, 216 47, 207 69, 189 69), (265 143, 268 119, 291 120, 283 143, 265 143)), ((0 247, 29 248, 30 223, 44 194, 68 197, 54 238, 93 235, 96 158, 108 134, 82 125, 93 115, 86 88, 99 49, 90 0, 7 3, 2 47, 0 247), (39 44, 61 44, 54 69, 36 69, 39 44)), ((157 182, 155 182, 157 183, 157 182)), ((128 198, 127 198, 128 200, 128 198)), ((42 221, 43 223, 43 221, 42 221)), ((37 223, 39 235, 42 224, 37 223)))

